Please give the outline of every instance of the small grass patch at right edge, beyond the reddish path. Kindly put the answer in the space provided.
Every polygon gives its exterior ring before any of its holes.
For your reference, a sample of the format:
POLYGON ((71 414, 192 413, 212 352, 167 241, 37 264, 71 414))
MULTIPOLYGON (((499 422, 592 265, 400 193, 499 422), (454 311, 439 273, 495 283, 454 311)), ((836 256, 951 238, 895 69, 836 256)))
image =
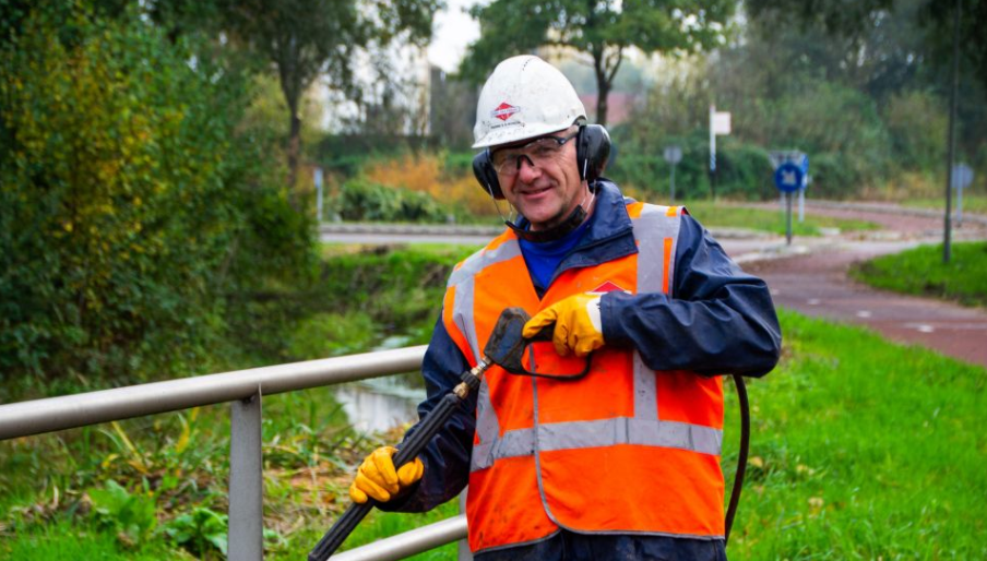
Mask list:
POLYGON ((942 253, 941 243, 921 246, 857 264, 851 275, 885 290, 987 306, 987 242, 952 243, 949 263, 942 253))

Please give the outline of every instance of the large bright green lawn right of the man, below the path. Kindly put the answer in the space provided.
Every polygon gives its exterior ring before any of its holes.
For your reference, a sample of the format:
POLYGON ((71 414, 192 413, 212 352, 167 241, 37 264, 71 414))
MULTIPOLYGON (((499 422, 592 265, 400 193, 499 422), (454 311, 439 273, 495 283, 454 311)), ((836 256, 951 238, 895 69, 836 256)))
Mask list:
MULTIPOLYGON (((750 384, 753 457, 730 556, 984 559, 987 371, 781 319, 785 358, 750 384)), ((736 430, 724 440, 727 457, 736 430)))

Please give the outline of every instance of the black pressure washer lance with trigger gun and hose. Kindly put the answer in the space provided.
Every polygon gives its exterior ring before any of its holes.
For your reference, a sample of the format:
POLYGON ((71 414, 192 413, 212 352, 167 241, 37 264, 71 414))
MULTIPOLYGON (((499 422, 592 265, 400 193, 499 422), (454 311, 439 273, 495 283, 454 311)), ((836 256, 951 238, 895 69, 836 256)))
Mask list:
MULTIPOLYGON (((425 450, 428 443, 431 442, 432 437, 442 429, 445 421, 455 411, 455 408, 466 401, 469 392, 476 392, 479 389, 484 372, 494 365, 503 368, 512 374, 534 375, 554 380, 579 380, 590 372, 592 354, 586 357, 584 368, 580 372, 559 374, 526 370, 522 365, 524 350, 533 342, 551 341, 552 330, 555 329, 554 325, 548 325, 533 338, 524 338, 522 332, 524 331, 524 324, 530 319, 531 317, 527 312, 521 308, 507 308, 500 313, 500 318, 497 319, 497 323, 494 325, 494 332, 490 334, 490 338, 487 339, 487 346, 484 347, 483 359, 480 359, 478 365, 460 374, 462 382, 453 387, 450 393, 445 394, 439 404, 421 419, 415 432, 408 437, 407 441, 394 454, 392 461, 395 468, 412 462, 425 450)), ((737 459, 737 473, 734 477, 730 502, 726 512, 726 539, 729 539, 734 514, 737 511, 737 504, 740 502, 740 489, 744 485, 748 442, 750 440, 750 410, 747 402, 747 390, 739 374, 734 375, 734 382, 737 384, 737 393, 740 401, 740 454, 737 459)), ((314 549, 309 552, 308 561, 326 561, 376 504, 377 502, 369 498, 362 504, 350 504, 343 515, 340 516, 340 520, 322 536, 314 549)))

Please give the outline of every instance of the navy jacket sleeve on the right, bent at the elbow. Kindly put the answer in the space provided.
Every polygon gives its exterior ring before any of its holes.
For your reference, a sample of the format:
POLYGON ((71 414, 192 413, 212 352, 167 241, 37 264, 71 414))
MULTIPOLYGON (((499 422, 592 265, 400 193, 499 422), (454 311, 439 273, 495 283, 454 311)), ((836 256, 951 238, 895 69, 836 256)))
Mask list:
POLYGON ((782 335, 764 282, 744 273, 692 216, 682 214, 671 295, 607 293, 604 339, 633 346, 653 370, 761 377, 782 335))

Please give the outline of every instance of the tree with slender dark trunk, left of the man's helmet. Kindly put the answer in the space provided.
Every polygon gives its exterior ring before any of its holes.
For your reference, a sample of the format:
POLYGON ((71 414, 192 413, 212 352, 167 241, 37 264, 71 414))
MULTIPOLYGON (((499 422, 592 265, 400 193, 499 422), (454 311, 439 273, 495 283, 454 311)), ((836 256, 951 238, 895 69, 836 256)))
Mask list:
POLYGON ((354 81, 360 48, 431 36, 431 14, 440 0, 218 0, 224 27, 273 64, 289 112, 288 184, 301 155, 302 94, 320 75, 347 97, 359 97, 354 81))

